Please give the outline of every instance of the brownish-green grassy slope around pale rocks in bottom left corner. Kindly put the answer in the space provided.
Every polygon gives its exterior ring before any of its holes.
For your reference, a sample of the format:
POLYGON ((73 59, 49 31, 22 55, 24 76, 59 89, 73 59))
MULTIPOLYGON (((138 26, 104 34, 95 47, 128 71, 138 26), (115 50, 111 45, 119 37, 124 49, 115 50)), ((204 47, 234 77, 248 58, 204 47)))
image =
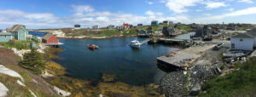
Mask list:
POLYGON ((13 97, 32 97, 28 92, 28 88, 32 90, 38 97, 51 97, 55 96, 55 93, 50 89, 50 86, 44 82, 44 79, 39 75, 32 74, 30 71, 20 67, 18 65, 20 57, 15 55, 9 48, 0 48, 0 65, 6 66, 11 70, 18 72, 25 80, 25 87, 21 87, 16 83, 17 77, 9 77, 7 75, 0 74, 0 82, 9 88, 9 96, 13 97), (34 81, 37 81, 35 83, 34 81))

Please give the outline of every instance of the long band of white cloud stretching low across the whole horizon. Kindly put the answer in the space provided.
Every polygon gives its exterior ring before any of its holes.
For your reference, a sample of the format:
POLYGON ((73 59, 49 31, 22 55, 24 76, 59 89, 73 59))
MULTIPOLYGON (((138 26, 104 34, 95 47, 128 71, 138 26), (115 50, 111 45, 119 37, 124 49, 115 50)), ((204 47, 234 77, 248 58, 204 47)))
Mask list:
MULTIPOLYGON (((188 4, 187 4, 188 5, 188 4)), ((91 7, 92 8, 92 7, 91 7)), ((93 8, 92 8, 93 9, 93 8)), ((30 13, 14 9, 0 9, 0 27, 8 28, 15 24, 26 25, 27 28, 63 28, 73 27, 74 24, 80 24, 82 27, 99 26, 120 26, 124 22, 137 25, 137 23, 150 24, 151 20, 172 20, 183 23, 217 22, 227 17, 256 14, 256 7, 231 11, 228 14, 211 15, 202 14, 202 18, 190 18, 185 14, 173 14, 164 16, 161 12, 148 10, 145 16, 137 14, 111 13, 108 11, 77 11, 73 8, 73 14, 67 16, 56 16, 52 13, 30 13), (207 15, 207 16, 206 16, 207 15)), ((253 21, 255 22, 255 21, 253 21)))

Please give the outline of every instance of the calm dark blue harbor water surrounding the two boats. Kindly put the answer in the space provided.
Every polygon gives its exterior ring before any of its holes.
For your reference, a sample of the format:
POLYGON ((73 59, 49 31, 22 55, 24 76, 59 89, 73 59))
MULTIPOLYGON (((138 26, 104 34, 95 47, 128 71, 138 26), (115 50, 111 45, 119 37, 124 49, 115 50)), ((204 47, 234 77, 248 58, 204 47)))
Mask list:
MULTIPOLYGON (((189 38, 191 33, 183 35, 189 38)), ((108 39, 60 39, 64 52, 58 53, 55 62, 67 68, 71 77, 100 80, 102 73, 113 74, 117 80, 133 85, 159 83, 166 72, 156 66, 156 58, 177 50, 166 45, 143 44, 134 49, 129 43, 138 37, 114 37, 108 39), (96 44, 100 48, 91 51, 88 44, 96 44)))

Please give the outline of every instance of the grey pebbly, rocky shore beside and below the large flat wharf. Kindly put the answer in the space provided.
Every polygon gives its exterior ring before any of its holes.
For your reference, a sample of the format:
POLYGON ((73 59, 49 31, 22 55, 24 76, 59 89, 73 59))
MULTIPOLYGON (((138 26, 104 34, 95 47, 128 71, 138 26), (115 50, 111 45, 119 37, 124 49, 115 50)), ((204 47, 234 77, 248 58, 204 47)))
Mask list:
POLYGON ((160 80, 160 94, 166 96, 195 96, 201 92, 201 84, 213 75, 219 75, 222 64, 218 52, 209 49, 201 59, 192 63, 188 70, 171 71, 160 80), (212 56, 212 58, 211 58, 212 56), (214 57, 213 57, 214 56, 214 57))

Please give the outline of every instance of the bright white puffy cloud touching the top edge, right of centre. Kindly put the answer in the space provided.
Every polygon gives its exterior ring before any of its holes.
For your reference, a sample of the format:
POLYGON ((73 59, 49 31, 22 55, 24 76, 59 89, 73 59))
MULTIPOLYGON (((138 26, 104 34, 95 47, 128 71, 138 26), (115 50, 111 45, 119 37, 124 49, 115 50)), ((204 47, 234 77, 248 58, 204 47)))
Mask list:
POLYGON ((201 2, 202 0, 167 0, 166 7, 176 14, 181 14, 184 12, 188 12, 188 9, 185 9, 185 7, 192 7, 195 6, 196 3, 201 2))

